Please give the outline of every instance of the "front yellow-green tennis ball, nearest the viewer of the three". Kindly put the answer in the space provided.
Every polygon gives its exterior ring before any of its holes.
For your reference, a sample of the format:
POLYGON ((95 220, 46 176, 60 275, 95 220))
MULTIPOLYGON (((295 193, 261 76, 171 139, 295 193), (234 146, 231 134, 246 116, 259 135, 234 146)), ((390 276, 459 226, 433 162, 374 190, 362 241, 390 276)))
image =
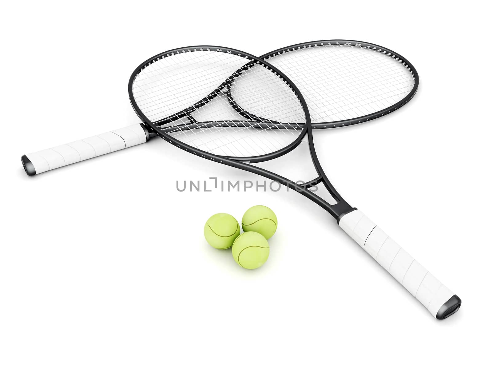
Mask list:
POLYGON ((270 254, 268 241, 258 232, 245 232, 232 245, 236 263, 246 269, 256 269, 265 264, 270 254))

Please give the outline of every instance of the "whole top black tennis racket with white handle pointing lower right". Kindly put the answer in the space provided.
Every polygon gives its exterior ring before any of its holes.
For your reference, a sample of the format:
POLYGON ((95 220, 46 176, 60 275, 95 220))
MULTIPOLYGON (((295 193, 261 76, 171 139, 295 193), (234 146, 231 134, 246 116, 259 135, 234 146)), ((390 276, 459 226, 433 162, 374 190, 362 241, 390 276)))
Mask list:
POLYGON ((277 181, 321 206, 437 319, 461 306, 458 296, 340 196, 316 156, 307 102, 276 67, 238 50, 193 46, 142 63, 128 92, 142 122, 165 141, 277 181), (252 165, 291 152, 305 137, 318 173, 306 186, 252 165), (336 204, 309 190, 319 183, 336 204))

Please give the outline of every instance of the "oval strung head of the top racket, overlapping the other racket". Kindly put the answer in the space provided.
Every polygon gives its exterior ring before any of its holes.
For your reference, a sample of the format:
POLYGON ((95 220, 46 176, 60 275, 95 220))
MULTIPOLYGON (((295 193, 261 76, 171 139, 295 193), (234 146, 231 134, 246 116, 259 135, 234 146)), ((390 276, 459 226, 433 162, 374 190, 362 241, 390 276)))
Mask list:
POLYGON ((292 81, 232 48, 189 46, 157 54, 131 74, 128 95, 139 118, 164 140, 229 164, 286 154, 311 129, 306 101, 292 81))

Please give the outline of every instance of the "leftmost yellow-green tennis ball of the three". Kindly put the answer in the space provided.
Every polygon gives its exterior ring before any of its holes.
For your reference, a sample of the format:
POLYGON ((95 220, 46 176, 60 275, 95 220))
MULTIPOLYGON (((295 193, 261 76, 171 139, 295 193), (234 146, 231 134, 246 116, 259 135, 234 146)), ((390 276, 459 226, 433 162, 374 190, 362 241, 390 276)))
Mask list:
POLYGON ((210 246, 226 249, 232 246, 232 243, 241 233, 238 221, 234 216, 218 213, 212 215, 203 229, 205 239, 210 246))

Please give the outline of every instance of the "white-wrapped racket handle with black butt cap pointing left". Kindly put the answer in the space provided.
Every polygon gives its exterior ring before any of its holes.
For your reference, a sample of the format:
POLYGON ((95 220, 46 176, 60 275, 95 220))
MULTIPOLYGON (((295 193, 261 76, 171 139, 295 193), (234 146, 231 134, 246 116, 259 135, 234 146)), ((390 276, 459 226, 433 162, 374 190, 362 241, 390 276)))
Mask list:
POLYGON ((33 176, 95 156, 143 144, 148 139, 147 128, 143 124, 133 124, 51 149, 22 155, 21 160, 26 173, 33 176))

